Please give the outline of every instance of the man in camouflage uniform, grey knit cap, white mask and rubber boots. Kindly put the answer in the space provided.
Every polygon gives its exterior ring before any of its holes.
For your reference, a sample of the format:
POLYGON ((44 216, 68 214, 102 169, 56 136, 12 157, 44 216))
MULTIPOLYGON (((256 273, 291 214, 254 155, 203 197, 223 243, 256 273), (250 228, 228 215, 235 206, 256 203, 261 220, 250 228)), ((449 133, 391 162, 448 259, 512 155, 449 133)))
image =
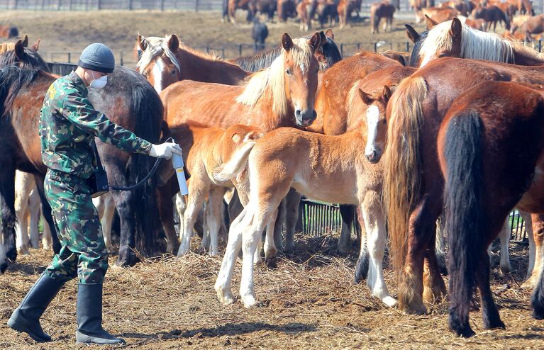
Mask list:
POLYGON ((50 341, 40 317, 62 286, 78 277, 78 343, 119 344, 102 328, 102 283, 108 269, 108 255, 87 179, 96 166, 94 137, 123 149, 152 157, 181 155, 174 143, 152 145, 128 130, 111 123, 87 99, 87 86, 101 89, 115 60, 106 45, 89 45, 79 58, 77 69, 50 86, 40 113, 42 160, 48 167, 45 196, 52 208, 62 248, 50 266, 11 315, 8 325, 26 332, 36 341, 50 341))

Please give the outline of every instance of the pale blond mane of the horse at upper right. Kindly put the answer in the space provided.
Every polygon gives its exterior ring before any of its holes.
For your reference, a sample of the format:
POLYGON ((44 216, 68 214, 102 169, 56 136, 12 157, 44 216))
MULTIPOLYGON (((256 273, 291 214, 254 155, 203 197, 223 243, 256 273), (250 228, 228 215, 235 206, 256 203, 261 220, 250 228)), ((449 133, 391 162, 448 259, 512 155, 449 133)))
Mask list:
MULTIPOLYGON (((451 24, 452 21, 445 21, 429 30, 419 52, 422 66, 428 63, 429 57, 436 52, 452 50, 451 24)), ((499 35, 462 24, 460 57, 514 63, 514 49, 511 41, 499 35)))

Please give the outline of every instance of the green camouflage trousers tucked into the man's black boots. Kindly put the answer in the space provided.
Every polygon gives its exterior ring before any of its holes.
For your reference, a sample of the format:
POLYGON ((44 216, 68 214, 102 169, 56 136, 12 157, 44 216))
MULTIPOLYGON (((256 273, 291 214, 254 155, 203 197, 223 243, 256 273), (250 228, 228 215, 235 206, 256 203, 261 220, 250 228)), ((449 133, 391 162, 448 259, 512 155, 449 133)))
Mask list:
POLYGON ((108 252, 89 186, 84 179, 48 170, 44 187, 61 244, 45 272, 57 281, 77 276, 79 283, 103 283, 108 252))

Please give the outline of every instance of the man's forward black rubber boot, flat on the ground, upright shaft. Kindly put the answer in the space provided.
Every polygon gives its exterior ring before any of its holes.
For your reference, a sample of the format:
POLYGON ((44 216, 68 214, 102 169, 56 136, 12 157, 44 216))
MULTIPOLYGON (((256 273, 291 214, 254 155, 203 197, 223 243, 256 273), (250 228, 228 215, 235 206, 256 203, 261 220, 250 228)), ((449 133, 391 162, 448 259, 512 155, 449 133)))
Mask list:
POLYGON ((87 344, 125 344, 102 328, 102 285, 77 285, 76 341, 87 344))

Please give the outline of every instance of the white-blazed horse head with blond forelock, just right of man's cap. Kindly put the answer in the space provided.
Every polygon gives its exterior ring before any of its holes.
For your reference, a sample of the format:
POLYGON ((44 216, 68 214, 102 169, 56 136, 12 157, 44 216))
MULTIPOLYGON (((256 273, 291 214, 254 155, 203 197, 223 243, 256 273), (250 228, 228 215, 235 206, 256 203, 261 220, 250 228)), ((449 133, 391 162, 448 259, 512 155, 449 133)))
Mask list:
POLYGON ((138 34, 137 42, 142 50, 137 64, 138 71, 148 79, 157 93, 170 84, 182 80, 182 68, 177 58, 179 50, 177 35, 167 35, 165 38, 145 38, 138 34))

